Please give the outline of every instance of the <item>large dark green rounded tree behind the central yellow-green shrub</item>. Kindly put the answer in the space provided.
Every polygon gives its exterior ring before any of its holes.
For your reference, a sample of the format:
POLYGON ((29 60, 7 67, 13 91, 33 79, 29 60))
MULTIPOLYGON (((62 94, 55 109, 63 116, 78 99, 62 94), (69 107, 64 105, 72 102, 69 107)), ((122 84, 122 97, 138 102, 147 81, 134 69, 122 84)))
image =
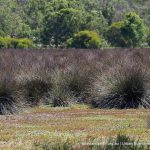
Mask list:
POLYGON ((78 32, 84 22, 83 12, 73 8, 52 12, 45 18, 42 40, 45 44, 60 47, 74 33, 78 32))

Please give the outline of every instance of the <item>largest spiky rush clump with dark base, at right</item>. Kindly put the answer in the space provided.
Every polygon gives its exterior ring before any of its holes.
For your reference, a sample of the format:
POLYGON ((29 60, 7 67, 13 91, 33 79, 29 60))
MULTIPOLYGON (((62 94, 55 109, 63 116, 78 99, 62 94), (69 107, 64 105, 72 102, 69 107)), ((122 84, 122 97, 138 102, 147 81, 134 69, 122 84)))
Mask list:
POLYGON ((113 67, 98 76, 91 88, 92 105, 99 108, 149 108, 150 80, 139 66, 113 67))

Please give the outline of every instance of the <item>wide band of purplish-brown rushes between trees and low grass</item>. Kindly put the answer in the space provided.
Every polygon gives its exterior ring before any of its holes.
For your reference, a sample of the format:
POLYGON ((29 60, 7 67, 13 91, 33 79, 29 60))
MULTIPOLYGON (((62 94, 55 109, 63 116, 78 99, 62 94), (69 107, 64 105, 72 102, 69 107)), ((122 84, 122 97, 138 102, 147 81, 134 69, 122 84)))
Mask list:
POLYGON ((149 49, 1 50, 0 82, 5 86, 0 89, 8 91, 1 97, 13 100, 13 110, 19 109, 18 100, 32 106, 46 101, 53 106, 92 102, 101 108, 149 108, 149 67, 149 49))

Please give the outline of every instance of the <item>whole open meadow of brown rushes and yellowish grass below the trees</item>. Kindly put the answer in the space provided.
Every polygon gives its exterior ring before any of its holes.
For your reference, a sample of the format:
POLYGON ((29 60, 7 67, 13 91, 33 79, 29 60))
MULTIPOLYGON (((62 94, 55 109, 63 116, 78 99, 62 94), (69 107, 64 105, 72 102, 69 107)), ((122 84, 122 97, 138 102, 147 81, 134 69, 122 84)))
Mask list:
POLYGON ((148 149, 149 68, 150 49, 1 50, 0 149, 148 149))

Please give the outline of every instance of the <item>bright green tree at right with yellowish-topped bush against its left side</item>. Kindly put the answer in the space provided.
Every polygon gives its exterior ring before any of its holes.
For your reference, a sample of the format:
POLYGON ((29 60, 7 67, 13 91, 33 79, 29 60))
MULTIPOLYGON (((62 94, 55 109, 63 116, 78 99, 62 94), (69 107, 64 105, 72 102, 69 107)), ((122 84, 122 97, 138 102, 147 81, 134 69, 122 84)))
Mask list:
POLYGON ((112 23, 108 28, 106 37, 117 47, 138 47, 144 43, 145 25, 135 12, 126 14, 121 22, 112 23))

